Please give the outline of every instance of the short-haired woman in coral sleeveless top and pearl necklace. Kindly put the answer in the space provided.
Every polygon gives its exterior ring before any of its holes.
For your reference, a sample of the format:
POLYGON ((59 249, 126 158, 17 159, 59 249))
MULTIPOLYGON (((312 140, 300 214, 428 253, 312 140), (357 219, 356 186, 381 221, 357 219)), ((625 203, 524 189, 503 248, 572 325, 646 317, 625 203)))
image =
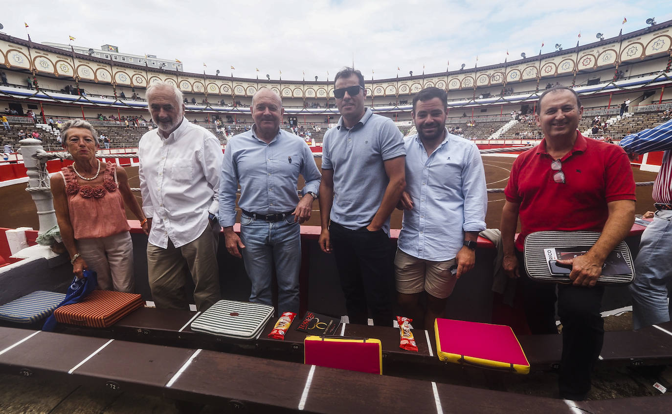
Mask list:
POLYGON ((149 229, 126 171, 96 158, 97 132, 87 121, 67 121, 60 136, 75 162, 52 175, 51 192, 73 273, 81 278, 90 268, 100 289, 132 292, 133 244, 124 204, 140 219, 140 227, 149 229))

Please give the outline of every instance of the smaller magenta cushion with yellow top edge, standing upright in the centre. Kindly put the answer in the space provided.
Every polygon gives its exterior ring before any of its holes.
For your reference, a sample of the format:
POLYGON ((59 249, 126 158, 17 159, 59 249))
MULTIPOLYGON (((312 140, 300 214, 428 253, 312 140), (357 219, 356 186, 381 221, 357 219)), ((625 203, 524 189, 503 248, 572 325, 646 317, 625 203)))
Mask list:
POLYGON ((382 375, 382 346, 380 340, 370 338, 310 335, 304 340, 304 362, 382 375))

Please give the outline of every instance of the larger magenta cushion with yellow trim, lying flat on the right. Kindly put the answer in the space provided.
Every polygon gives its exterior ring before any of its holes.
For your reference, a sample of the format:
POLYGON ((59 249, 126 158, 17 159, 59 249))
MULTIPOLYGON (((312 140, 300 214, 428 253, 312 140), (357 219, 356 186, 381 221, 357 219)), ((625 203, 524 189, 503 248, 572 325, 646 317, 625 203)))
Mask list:
POLYGON ((530 372, 530 362, 509 326, 437 318, 434 333, 439 360, 518 374, 530 372))

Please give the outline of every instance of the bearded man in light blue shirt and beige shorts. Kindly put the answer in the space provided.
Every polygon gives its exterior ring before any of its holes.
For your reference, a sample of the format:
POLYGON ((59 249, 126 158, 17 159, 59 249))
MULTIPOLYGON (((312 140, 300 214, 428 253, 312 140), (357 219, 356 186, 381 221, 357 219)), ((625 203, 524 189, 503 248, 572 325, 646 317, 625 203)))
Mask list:
POLYGON ((448 134, 447 103, 446 92, 433 87, 413 99, 418 133, 405 138, 406 191, 398 206, 405 210, 394 258, 398 302, 415 326, 427 330, 444 317, 457 279, 474 267, 488 205, 480 152, 448 134))

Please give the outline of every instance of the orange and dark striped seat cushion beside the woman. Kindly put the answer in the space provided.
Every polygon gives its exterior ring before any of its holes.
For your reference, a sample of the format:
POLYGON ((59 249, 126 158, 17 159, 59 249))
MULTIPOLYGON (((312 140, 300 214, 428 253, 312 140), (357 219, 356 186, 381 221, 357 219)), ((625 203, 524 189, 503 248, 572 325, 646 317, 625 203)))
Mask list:
POLYGON ((54 317, 60 323, 108 327, 142 305, 142 297, 135 293, 96 290, 80 303, 58 307, 54 317))

